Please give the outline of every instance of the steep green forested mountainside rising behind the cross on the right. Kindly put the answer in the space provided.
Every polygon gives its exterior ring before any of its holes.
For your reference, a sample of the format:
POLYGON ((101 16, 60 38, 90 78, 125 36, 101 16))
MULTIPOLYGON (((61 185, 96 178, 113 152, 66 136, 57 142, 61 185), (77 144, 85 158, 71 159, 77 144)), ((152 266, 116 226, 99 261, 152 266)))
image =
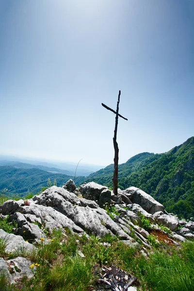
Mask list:
MULTIPOLYGON (((113 164, 86 181, 112 187, 113 164)), ((119 165, 118 186, 138 187, 179 216, 194 216, 194 137, 163 154, 141 153, 119 165)))

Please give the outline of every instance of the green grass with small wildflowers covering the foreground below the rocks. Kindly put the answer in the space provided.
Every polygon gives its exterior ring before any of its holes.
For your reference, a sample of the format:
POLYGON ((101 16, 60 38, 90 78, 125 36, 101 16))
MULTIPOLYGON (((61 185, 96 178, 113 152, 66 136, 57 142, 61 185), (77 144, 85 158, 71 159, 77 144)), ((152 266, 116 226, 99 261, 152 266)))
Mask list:
MULTIPOLYGON (((131 248, 110 234, 99 239, 79 237, 67 230, 65 236, 62 231, 54 230, 48 244, 42 242, 36 252, 22 254, 39 265, 33 269, 34 278, 24 278, 15 287, 8 283, 1 286, 5 286, 5 291, 89 291, 96 286, 99 268, 113 264, 137 276, 142 291, 193 291, 194 243, 185 242, 181 248, 160 244, 159 249, 155 247, 155 237, 149 237, 153 251, 147 259, 140 249, 131 248)), ((4 247, 2 242, 1 253, 4 247)))

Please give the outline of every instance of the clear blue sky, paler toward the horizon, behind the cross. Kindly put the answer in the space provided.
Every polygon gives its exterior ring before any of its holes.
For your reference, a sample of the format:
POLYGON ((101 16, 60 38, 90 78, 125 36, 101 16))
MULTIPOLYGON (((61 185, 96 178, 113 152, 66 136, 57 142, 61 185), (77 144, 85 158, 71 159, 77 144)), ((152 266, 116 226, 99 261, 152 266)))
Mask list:
POLYGON ((194 0, 0 0, 0 154, 119 163, 194 136, 194 0))

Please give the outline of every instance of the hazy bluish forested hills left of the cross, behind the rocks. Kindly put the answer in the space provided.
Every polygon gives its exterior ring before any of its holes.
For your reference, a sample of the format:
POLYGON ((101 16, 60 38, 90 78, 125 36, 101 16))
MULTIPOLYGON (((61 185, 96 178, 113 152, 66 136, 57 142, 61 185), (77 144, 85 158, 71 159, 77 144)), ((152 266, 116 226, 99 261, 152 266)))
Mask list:
MULTIPOLYGON (((19 194, 24 196, 29 192, 36 194, 42 187, 47 186, 48 179, 53 183, 56 179, 57 185, 62 186, 73 176, 65 174, 52 174, 40 169, 17 169, 11 166, 0 167, 0 192, 7 189, 6 194, 19 194)), ((85 177, 77 177, 79 183, 85 177)))

